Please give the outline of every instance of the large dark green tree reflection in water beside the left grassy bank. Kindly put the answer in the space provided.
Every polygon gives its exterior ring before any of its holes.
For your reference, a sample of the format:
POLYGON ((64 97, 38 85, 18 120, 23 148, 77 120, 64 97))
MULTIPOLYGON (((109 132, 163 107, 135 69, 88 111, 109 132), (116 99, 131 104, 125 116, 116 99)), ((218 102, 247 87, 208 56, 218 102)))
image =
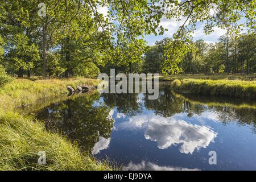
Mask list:
POLYGON ((92 151, 99 137, 110 137, 114 122, 108 117, 108 106, 92 106, 93 102, 99 99, 98 92, 81 95, 44 107, 36 115, 39 119, 48 121, 48 129, 57 130, 76 140, 82 150, 92 151))

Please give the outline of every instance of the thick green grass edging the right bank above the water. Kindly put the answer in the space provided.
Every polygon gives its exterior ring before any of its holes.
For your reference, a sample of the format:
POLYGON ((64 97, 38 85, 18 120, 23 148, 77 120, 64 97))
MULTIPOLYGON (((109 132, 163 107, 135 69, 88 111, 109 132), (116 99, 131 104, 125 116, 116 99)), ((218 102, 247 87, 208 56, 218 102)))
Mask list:
POLYGON ((256 81, 183 79, 171 82, 176 90, 217 96, 256 98, 256 81))

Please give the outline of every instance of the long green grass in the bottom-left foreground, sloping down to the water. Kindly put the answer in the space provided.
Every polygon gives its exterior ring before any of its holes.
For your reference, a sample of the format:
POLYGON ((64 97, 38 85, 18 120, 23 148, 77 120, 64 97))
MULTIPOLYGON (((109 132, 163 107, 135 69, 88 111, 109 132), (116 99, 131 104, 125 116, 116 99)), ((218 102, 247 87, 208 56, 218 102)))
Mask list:
POLYGON ((18 114, 0 115, 0 170, 112 170, 108 162, 81 153, 76 143, 46 131, 43 123, 18 114), (46 152, 39 165, 38 152, 46 152))

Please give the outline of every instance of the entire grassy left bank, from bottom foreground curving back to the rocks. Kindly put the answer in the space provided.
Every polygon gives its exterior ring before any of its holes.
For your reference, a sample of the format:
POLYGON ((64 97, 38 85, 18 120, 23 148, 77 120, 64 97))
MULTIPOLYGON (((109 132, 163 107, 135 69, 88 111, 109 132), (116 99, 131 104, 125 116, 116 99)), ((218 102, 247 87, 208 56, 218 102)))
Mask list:
MULTIPOLYGON (((108 160, 97 161, 81 153, 76 143, 60 134, 49 133, 44 124, 16 113, 16 107, 44 97, 67 92, 66 86, 96 85, 97 80, 14 80, 0 89, 1 170, 111 170, 108 160), (46 152, 46 165, 39 165, 38 152, 46 152)), ((65 97, 65 96, 63 96, 65 97)))

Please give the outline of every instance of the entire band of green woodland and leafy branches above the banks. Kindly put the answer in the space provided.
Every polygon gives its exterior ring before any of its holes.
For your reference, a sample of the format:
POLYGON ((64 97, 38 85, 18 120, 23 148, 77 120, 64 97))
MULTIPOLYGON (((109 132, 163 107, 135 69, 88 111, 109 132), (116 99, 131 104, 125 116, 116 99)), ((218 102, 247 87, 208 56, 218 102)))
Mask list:
MULTIPOLYGON (((162 35, 167 31, 159 25, 163 16, 161 6, 152 3, 144 7, 143 2, 137 5, 120 1, 112 5, 107 15, 97 11, 99 7, 109 5, 108 1, 47 1, 47 15, 39 16, 44 9, 37 1, 1 3, 1 69, 15 77, 32 75, 44 78, 93 78, 100 72, 109 73, 110 68, 123 73, 165 75, 224 72, 251 74, 256 71, 255 30, 250 18, 246 22, 249 34, 238 36, 240 24, 236 25, 236 30, 227 29, 228 32, 218 42, 208 44, 202 39, 193 41, 181 36, 180 31, 189 35, 194 30, 193 26, 184 26, 180 27, 174 38, 164 38, 156 41, 154 46, 148 46, 142 39, 143 35, 162 35), (139 11, 142 7, 144 10, 139 11), (150 12, 143 16, 146 10, 150 12), (141 19, 135 19, 137 16, 141 19), (138 26, 138 23, 143 26, 138 26), (175 44, 179 46, 174 47, 175 44), (170 57, 176 53, 179 56, 170 57)), ((167 2, 165 6, 168 6, 167 2)), ((206 5, 199 3, 198 6, 206 5)), ((197 11, 195 14, 199 16, 203 10, 197 11)), ((176 12, 177 16, 185 14, 176 12)), ((253 18, 254 15, 250 15, 253 18)), ((239 20, 237 16, 233 16, 234 21, 239 20)), ((201 17, 203 20, 207 18, 201 17)), ((191 19, 192 25, 195 23, 193 21, 191 19)), ((216 24, 226 26, 219 22, 216 24)), ((210 26, 205 26, 205 31, 211 31, 210 26)))

